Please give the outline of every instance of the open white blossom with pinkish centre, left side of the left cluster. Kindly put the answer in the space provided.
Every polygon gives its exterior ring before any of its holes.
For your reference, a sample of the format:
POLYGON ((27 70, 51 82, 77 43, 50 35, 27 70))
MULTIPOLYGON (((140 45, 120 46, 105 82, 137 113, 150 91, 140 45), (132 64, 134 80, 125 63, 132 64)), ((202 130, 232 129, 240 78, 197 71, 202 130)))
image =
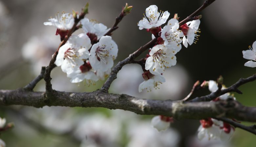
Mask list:
POLYGON ((61 66, 63 72, 70 74, 75 66, 84 64, 90 56, 91 41, 86 34, 73 35, 66 44, 60 47, 55 64, 61 66), (65 58, 65 59, 64 59, 65 58))

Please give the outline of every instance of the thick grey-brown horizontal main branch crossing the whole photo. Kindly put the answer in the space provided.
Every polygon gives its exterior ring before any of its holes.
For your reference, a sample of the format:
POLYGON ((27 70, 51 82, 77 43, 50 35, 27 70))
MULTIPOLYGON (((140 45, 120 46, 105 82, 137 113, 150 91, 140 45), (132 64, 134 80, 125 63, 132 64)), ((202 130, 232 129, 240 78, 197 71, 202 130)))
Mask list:
POLYGON ((83 93, 56 91, 54 98, 47 97, 44 92, 0 90, 0 105, 105 107, 143 115, 170 116, 176 119, 229 117, 256 122, 256 107, 245 107, 234 100, 182 103, 170 100, 139 99, 125 94, 109 94, 102 90, 83 93))

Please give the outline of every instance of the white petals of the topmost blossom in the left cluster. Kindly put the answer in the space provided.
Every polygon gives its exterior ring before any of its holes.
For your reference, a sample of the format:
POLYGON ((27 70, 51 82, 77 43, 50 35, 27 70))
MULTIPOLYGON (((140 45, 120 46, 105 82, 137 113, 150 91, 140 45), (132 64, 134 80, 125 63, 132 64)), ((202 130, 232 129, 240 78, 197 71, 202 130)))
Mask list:
POLYGON ((73 15, 69 13, 62 13, 61 16, 56 15, 56 18, 49 19, 49 22, 44 22, 44 25, 53 25, 61 30, 69 30, 74 25, 75 20, 73 15))

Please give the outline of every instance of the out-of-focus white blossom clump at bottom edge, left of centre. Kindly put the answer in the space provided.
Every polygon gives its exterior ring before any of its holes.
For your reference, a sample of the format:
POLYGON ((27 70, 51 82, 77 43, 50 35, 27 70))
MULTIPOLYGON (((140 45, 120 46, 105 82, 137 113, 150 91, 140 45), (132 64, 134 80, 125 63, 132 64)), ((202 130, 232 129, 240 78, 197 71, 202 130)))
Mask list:
POLYGON ((74 130, 77 139, 84 140, 86 145, 110 147, 117 146, 120 139, 121 122, 115 118, 106 118, 103 115, 93 114, 84 117, 74 130))

